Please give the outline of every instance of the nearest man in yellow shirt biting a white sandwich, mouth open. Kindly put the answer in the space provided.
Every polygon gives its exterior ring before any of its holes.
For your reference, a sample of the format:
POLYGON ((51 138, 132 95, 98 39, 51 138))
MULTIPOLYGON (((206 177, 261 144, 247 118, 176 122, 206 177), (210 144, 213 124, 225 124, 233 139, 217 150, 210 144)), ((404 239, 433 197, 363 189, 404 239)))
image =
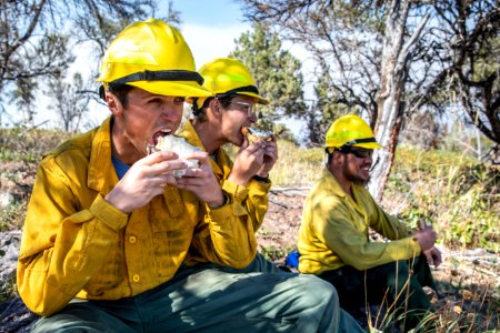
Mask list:
POLYGON ((208 289, 183 264, 199 246, 210 262, 246 268, 257 249, 207 152, 186 157, 190 169, 174 151, 148 152, 179 127, 184 97, 210 95, 179 31, 154 19, 128 26, 98 81, 111 117, 38 168, 17 275, 42 315, 32 332, 339 331, 337 293, 320 279, 294 281, 293 294, 290 282, 244 274, 208 289), (203 223, 201 246, 192 235, 203 223))

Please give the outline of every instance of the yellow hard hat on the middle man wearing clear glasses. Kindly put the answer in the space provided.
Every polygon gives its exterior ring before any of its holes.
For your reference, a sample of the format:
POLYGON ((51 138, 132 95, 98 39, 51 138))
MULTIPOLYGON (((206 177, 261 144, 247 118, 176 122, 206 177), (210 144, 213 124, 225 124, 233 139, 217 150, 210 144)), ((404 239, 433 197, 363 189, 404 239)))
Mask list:
MULTIPOLYGON (((259 104, 269 104, 269 100, 259 94, 256 81, 241 61, 217 58, 203 64, 198 72, 203 77, 203 87, 212 97, 238 93, 256 98, 259 104)), ((202 107, 204 100, 198 99, 198 108, 202 107)))

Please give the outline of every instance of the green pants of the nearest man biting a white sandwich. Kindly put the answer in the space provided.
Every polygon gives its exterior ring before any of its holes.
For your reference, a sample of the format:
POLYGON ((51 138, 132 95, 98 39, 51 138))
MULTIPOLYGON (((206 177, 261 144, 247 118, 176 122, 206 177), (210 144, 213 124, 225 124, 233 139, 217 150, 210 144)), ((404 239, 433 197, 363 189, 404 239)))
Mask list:
MULTIPOLYGON (((276 269, 261 260, 256 258, 248 270, 276 269)), ((279 270, 247 273, 213 265, 182 268, 171 281, 133 297, 74 300, 59 313, 39 320, 33 330, 194 331, 363 332, 340 310, 334 287, 321 279, 279 270)))

